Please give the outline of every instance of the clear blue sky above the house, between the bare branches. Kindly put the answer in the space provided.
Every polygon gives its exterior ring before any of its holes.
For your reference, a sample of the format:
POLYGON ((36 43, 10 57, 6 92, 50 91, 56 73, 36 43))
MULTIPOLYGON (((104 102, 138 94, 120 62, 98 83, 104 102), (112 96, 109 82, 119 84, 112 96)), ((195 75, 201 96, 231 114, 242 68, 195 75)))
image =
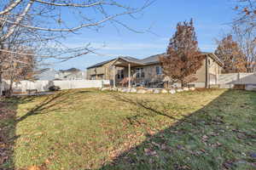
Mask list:
MULTIPOLYGON (((120 55, 142 59, 165 53, 177 22, 190 18, 195 21, 201 51, 213 52, 216 48, 214 39, 230 29, 229 23, 235 16, 234 1, 236 0, 156 0, 137 20, 130 17, 120 19, 131 28, 145 31, 144 33, 128 31, 121 26, 117 30, 111 25, 105 25, 100 31, 84 29, 79 35, 69 35, 64 43, 70 48, 90 43, 91 47, 97 48, 98 55, 87 54, 54 67, 56 70, 71 67, 85 70, 90 65, 120 55), (146 31, 149 28, 154 34, 146 31)), ((134 2, 137 2, 137 6, 140 5, 139 0, 131 1, 134 2)))

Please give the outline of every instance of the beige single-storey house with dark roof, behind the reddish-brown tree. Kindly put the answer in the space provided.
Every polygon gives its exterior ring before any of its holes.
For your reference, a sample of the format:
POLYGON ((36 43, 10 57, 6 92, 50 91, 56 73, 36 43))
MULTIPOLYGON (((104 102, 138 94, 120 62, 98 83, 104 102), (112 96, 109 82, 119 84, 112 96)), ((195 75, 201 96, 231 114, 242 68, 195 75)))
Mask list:
MULTIPOLYGON (((92 65, 87 68, 87 77, 90 79, 107 79, 113 82, 113 86, 120 85, 125 78, 128 79, 128 87, 141 84, 148 87, 157 87, 166 81, 160 65, 160 56, 157 54, 145 59, 133 57, 119 57, 92 65), (130 77, 130 79, 129 79, 130 77), (130 80, 130 81, 129 81, 130 80)), ((206 88, 218 83, 218 75, 222 71, 223 63, 215 54, 202 53, 201 69, 196 74, 196 81, 190 84, 198 88, 206 88)))

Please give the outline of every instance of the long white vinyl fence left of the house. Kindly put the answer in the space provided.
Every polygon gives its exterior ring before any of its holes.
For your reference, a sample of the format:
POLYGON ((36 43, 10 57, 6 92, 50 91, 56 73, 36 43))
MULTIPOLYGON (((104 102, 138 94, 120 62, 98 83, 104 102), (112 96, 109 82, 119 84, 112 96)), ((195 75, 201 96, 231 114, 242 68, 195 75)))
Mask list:
MULTIPOLYGON (((50 86, 59 86, 61 89, 73 88, 102 88, 109 85, 109 80, 73 80, 73 81, 20 81, 13 85, 14 92, 25 93, 28 89, 37 89, 38 92, 48 91, 50 86)), ((9 88, 9 81, 3 82, 3 90, 9 88)))

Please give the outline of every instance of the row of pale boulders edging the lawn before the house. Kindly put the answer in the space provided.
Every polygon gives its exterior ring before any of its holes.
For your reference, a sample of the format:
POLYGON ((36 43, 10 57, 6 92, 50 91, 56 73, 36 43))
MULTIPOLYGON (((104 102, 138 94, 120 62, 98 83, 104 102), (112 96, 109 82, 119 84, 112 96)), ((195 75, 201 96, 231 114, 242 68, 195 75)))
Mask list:
POLYGON ((195 88, 100 88, 101 91, 115 91, 125 94, 176 94, 180 92, 195 91, 195 88))

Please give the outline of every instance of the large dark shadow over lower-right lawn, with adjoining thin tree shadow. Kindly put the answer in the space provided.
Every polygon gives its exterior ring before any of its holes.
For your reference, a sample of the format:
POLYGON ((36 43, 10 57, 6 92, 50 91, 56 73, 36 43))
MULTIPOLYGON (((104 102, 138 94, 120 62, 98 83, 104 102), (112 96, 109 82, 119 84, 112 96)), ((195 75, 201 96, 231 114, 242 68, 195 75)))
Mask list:
MULTIPOLYGON (((150 102, 113 95, 145 110, 137 122, 147 111, 173 119, 150 102)), ((100 169, 255 169, 255 114, 256 93, 226 91, 100 169)))

